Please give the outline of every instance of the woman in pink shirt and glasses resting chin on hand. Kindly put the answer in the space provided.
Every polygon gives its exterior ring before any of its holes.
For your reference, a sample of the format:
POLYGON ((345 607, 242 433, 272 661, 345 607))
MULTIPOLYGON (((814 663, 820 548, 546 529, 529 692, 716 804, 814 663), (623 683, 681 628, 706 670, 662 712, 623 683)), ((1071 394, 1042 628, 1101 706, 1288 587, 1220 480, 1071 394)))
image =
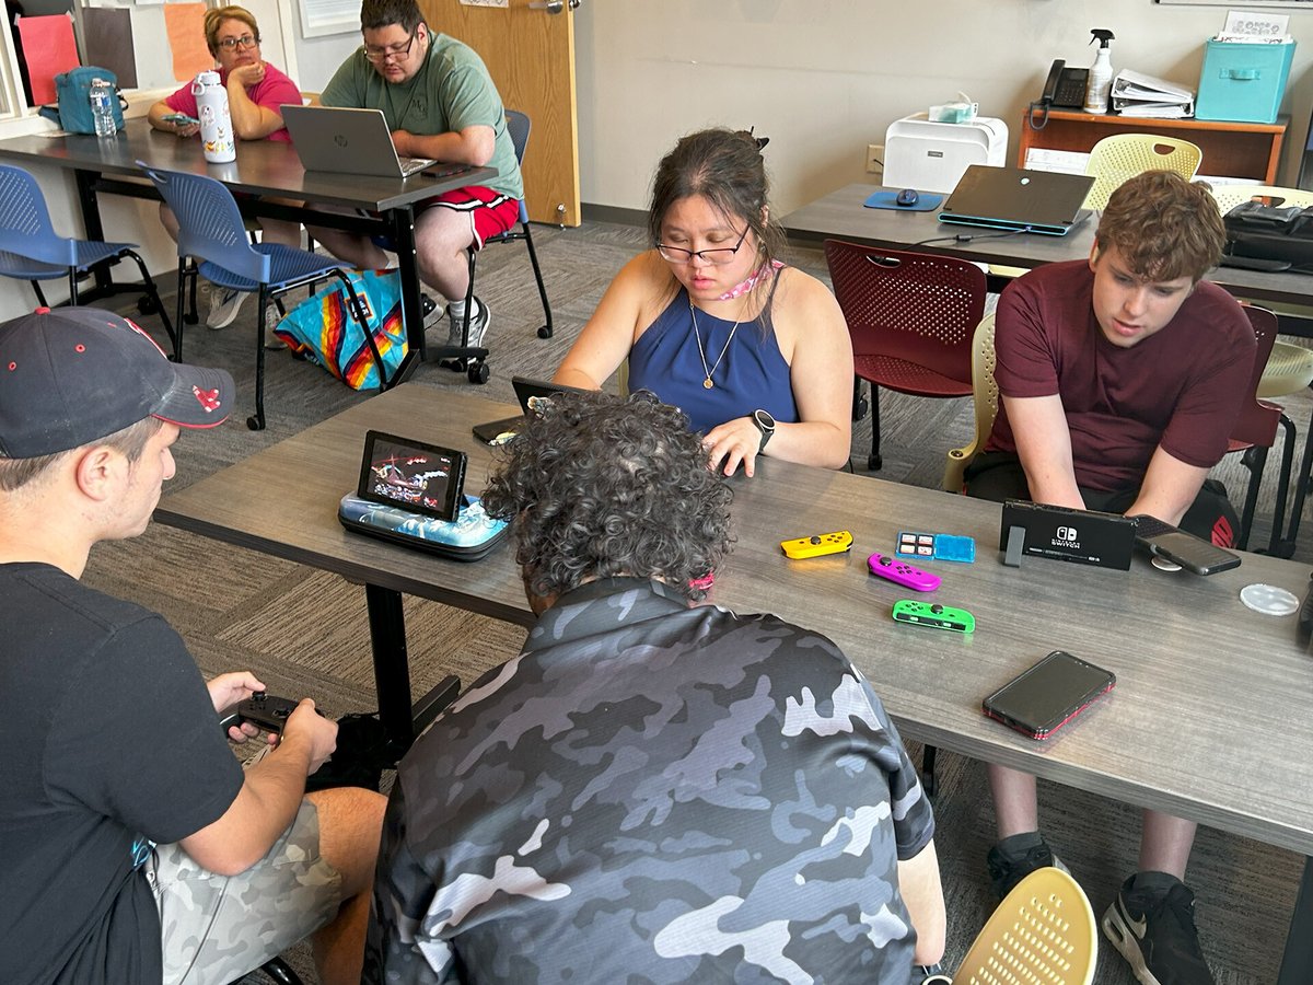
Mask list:
MULTIPOLYGON (((282 104, 301 104, 301 89, 286 75, 260 56, 260 28, 255 14, 242 7, 219 7, 205 12, 205 46, 219 70, 219 79, 228 92, 228 114, 232 133, 240 141, 291 141, 278 112, 282 104)), ((196 137, 201 131, 192 83, 160 100, 150 110, 151 126, 179 137, 196 137)), ((167 205, 160 206, 160 222, 176 240, 177 219, 167 205)), ((301 225, 282 219, 260 219, 263 240, 282 246, 301 246, 301 225)), ((226 328, 238 317, 247 294, 235 290, 211 290, 210 328, 226 328)), ((272 327, 277 318, 267 322, 272 327)), ((274 344, 273 336, 269 339, 274 344)))

